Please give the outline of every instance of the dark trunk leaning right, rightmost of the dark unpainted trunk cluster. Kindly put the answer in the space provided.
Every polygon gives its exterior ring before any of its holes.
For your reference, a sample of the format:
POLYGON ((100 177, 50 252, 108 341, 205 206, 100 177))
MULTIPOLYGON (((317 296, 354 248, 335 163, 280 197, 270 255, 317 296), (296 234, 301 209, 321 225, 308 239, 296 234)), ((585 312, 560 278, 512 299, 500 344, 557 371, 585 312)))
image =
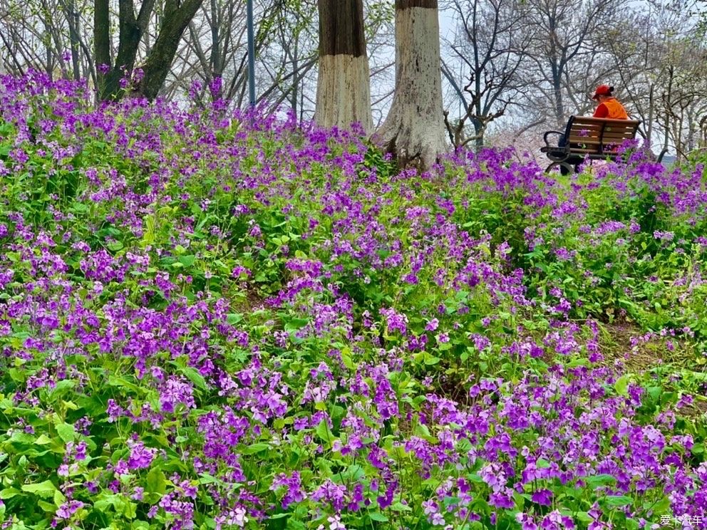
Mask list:
POLYGON ((157 97, 162 84, 172 67, 172 59, 177 53, 182 34, 194 18, 197 9, 203 0, 186 0, 181 5, 176 0, 167 0, 165 3, 165 16, 160 26, 158 35, 150 56, 143 66, 143 79, 138 86, 138 94, 148 100, 157 97))

